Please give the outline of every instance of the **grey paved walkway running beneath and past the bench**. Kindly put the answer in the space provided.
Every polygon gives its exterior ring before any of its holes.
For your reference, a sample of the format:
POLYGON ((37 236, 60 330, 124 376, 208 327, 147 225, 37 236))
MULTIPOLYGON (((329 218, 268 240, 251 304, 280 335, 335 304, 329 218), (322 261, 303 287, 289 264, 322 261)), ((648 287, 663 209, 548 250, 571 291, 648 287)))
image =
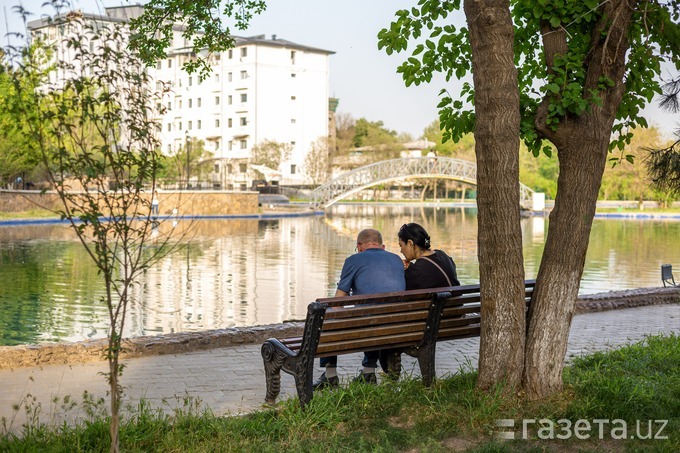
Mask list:
MULTIPOLYGON (((578 315, 572 323, 567 360, 661 332, 680 333, 680 305, 578 315)), ((478 338, 440 343, 437 374, 443 376, 476 367, 478 349, 478 338)), ((360 362, 359 354, 341 357, 340 375, 354 376, 360 362)), ((200 401, 201 407, 210 407, 216 414, 239 414, 260 408, 264 401, 260 345, 143 357, 124 363, 121 383, 125 386, 125 404, 131 406, 143 398, 152 408, 171 412, 191 400, 200 401)), ((410 357, 404 356, 403 365, 407 372, 417 374, 418 367, 410 357)), ((0 420, 4 418, 6 429, 16 432, 27 420, 35 420, 36 414, 41 423, 49 424, 82 419, 86 417, 80 405, 84 391, 95 399, 106 396, 107 384, 99 374, 105 371, 104 362, 0 370, 0 420), (78 404, 65 409, 64 397, 78 404)), ((281 397, 294 395, 293 378, 282 375, 281 397)))

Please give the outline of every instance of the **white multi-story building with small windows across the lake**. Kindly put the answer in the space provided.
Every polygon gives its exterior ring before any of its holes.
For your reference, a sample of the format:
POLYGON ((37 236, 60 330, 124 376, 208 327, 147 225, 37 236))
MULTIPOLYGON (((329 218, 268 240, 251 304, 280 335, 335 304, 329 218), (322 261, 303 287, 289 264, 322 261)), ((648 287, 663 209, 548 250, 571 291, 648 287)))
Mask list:
MULTIPOLYGON (((106 8, 106 16, 71 16, 121 23, 142 11, 141 6, 122 6, 106 8)), ((68 20, 67 16, 63 19, 68 20)), ((63 32, 64 20, 43 19, 28 25, 33 35, 55 38, 60 27, 63 32)), ((192 43, 182 31, 181 25, 174 27, 167 58, 149 68, 154 80, 172 87, 163 99, 165 115, 159 118, 163 152, 172 155, 189 141, 202 140, 214 157, 209 176, 214 186, 247 189, 258 178, 250 166, 253 147, 274 141, 290 149, 287 159, 273 169, 280 174, 279 182, 311 182, 305 156, 313 143, 329 137, 329 56, 333 52, 275 35, 235 37, 234 48, 203 56, 209 59, 212 72, 201 81, 198 74, 182 69, 195 58, 192 43)))

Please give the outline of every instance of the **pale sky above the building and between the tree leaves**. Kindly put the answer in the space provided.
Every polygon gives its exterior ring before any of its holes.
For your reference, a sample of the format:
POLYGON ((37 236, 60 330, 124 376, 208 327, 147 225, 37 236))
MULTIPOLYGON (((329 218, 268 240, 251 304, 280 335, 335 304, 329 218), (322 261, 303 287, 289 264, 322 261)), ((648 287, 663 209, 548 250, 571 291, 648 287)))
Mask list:
MULTIPOLYGON (((6 30, 21 30, 11 7, 40 11, 44 0, 0 0, 0 36, 6 30)), ((76 9, 97 13, 101 5, 134 4, 124 0, 72 0, 76 9)), ((389 27, 394 13, 410 8, 417 0, 268 0, 267 10, 256 16, 248 30, 232 29, 237 36, 275 34, 297 44, 335 52, 330 56, 330 96, 339 99, 339 113, 353 118, 382 121, 388 129, 419 138, 425 127, 437 119, 439 92, 446 88, 456 94, 459 81, 443 77, 429 84, 406 87, 397 67, 410 53, 388 56, 378 50, 378 32, 389 27)), ((46 10, 42 10, 43 13, 46 10)), ((34 17, 35 18, 35 17, 34 17)), ((464 23, 463 12, 453 16, 464 23)), ((666 74, 670 76, 671 74, 666 74)), ((650 125, 670 137, 680 127, 680 118, 658 109, 656 100, 645 109, 650 125)))

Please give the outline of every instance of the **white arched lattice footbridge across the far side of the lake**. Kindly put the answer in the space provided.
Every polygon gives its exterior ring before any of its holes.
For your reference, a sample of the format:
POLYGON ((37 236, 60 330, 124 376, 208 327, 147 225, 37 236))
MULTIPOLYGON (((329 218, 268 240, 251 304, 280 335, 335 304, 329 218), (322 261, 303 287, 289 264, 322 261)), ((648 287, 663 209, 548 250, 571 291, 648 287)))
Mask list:
MULTIPOLYGON (((327 208, 372 186, 409 178, 453 179, 477 185, 477 165, 451 157, 405 157, 375 162, 355 168, 328 181, 312 192, 317 208, 327 208)), ((534 191, 520 183, 520 206, 532 208, 534 191)))

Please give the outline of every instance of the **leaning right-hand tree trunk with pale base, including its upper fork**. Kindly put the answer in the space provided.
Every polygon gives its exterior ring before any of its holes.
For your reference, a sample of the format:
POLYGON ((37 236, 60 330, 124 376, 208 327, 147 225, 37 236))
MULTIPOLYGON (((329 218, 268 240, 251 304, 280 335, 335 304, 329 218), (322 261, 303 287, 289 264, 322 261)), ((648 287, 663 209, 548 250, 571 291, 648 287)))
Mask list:
MULTIPOLYGON (((612 80, 614 86, 600 92, 600 106, 593 106, 578 118, 563 118, 555 131, 545 124, 549 99, 544 100, 536 116, 537 130, 557 147, 560 175, 527 332, 523 383, 530 399, 543 398, 562 389, 574 304, 611 130, 625 90, 623 75, 629 48, 626 33, 632 17, 631 4, 611 0, 602 8, 603 17, 593 30, 591 49, 584 62, 583 92, 596 89, 602 77, 612 80)), ((548 62, 565 48, 564 37, 559 33, 544 39, 548 62)))

